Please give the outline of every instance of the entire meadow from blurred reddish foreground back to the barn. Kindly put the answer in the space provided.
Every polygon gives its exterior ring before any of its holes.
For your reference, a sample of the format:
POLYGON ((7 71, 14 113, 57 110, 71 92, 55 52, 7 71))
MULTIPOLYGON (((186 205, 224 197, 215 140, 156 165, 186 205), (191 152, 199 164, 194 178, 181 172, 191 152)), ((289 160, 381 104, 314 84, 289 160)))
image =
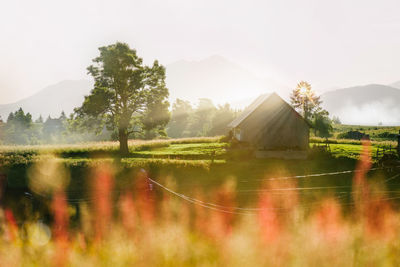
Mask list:
POLYGON ((399 264, 400 178, 371 158, 387 142, 332 139, 307 160, 254 159, 221 137, 129 145, 124 158, 115 142, 1 147, 0 262, 399 264))

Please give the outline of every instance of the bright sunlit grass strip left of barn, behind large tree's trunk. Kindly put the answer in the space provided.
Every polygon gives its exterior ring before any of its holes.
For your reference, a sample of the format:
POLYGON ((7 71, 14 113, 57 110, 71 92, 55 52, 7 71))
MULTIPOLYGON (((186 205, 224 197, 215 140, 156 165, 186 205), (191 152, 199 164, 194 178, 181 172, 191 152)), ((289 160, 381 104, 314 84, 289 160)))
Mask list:
MULTIPOLYGON (((220 155, 223 145, 221 137, 182 138, 167 140, 130 140, 130 157, 209 157, 206 150, 216 150, 220 155), (185 148, 185 145, 187 147, 185 148), (199 148, 196 148, 196 146, 199 148), (181 146, 181 147, 180 147, 181 146), (203 153, 201 148, 204 148, 203 153), (193 152, 189 150, 193 149, 193 152), (179 152, 181 150, 181 152, 179 152), (185 151, 186 150, 186 151, 185 151)), ((37 146, 0 146, 0 167, 24 164, 34 161, 40 155, 52 154, 60 158, 98 158, 119 157, 118 142, 93 142, 73 145, 37 145, 37 146)))

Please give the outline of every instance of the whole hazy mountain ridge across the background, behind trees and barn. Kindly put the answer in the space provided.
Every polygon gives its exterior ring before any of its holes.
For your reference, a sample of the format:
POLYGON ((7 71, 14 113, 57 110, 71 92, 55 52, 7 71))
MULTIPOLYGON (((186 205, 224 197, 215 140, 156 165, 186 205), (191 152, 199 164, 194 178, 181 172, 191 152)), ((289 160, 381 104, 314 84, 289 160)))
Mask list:
MULTIPOLYGON (((279 91, 273 81, 260 78, 242 66, 221 56, 199 61, 180 60, 166 66, 171 103, 176 98, 195 103, 198 98, 212 98, 215 104, 230 103, 245 107, 257 96, 279 91), (246 97, 243 97, 246 95, 246 97)), ((0 105, 0 116, 22 107, 33 118, 67 115, 79 107, 93 84, 89 80, 62 81, 11 104, 0 105)), ((369 84, 332 90, 321 96, 323 107, 343 123, 400 125, 400 81, 391 85, 369 84)))

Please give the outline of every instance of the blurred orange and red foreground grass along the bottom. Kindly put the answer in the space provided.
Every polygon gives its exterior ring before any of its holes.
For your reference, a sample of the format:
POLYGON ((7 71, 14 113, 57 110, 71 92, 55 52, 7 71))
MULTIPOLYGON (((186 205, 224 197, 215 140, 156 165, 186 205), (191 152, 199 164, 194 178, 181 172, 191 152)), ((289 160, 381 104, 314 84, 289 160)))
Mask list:
MULTIPOLYGON (((61 177, 65 160, 43 156, 34 168, 48 177, 61 177)), ((70 160, 73 164, 76 159, 70 160)), ((363 162, 368 165, 367 159, 363 162)), ((85 195, 87 201, 68 203, 64 194, 76 197, 73 192, 49 183, 53 193, 47 193, 43 206, 51 220, 38 218, 32 212, 33 204, 26 199, 23 223, 19 223, 17 212, 21 209, 0 209, 4 218, 0 220, 0 262, 5 266, 400 264, 400 213, 391 200, 398 197, 399 190, 389 195, 381 174, 368 178, 361 173, 354 179, 350 175, 258 181, 292 172, 347 169, 355 166, 355 160, 240 160, 189 169, 181 168, 181 163, 164 159, 93 159, 87 162, 90 171, 81 175, 86 181, 81 186, 90 188, 85 195), (134 161, 154 163, 153 167, 166 162, 170 165, 150 168, 148 174, 120 168, 120 164, 138 163, 134 161), (170 168, 174 164, 176 168, 170 168), (195 198, 195 204, 156 184, 150 187, 147 175, 195 198), (312 194, 276 191, 329 184, 359 185, 347 191, 346 202, 342 194, 329 190, 312 194), (370 190, 364 190, 367 187, 370 190), (251 188, 258 191, 250 192, 251 188), (252 200, 243 201, 249 198, 252 200)), ((70 175, 73 177, 73 171, 70 175)))

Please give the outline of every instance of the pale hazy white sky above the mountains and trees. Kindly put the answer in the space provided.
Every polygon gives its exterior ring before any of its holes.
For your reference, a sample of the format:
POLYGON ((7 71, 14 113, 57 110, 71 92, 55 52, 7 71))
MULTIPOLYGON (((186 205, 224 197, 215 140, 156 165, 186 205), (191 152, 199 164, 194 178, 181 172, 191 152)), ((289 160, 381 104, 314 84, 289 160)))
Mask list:
POLYGON ((97 47, 115 41, 145 62, 219 54, 320 92, 392 83, 400 80, 399 12, 398 0, 3 0, 0 103, 88 78, 97 47))

